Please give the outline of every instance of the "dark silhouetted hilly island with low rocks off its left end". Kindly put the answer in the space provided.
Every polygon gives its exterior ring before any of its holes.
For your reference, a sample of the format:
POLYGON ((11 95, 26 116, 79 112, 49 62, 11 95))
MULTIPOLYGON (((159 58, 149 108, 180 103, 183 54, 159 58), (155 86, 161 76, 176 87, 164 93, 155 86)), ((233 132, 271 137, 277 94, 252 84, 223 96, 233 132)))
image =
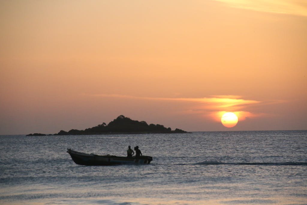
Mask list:
MULTIPOLYGON (((131 120, 123 115, 118 116, 109 124, 102 123, 85 130, 71 129, 68 132, 61 130, 54 135, 102 135, 102 134, 151 134, 151 133, 188 133, 184 130, 176 128, 166 128, 160 124, 147 124, 145 121, 131 120)), ((29 134, 27 136, 42 136, 29 134)))

